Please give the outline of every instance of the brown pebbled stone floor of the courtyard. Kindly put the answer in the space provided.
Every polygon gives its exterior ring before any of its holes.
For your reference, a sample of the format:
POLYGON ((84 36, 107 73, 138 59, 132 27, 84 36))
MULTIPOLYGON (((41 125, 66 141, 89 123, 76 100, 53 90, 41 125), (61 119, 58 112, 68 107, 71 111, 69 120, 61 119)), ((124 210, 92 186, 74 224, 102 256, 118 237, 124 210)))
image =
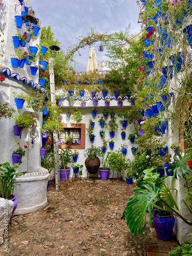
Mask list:
POLYGON ((177 246, 157 238, 147 226, 142 237, 134 237, 122 212, 136 185, 122 180, 73 179, 54 181, 48 190, 48 206, 28 215, 15 216, 9 225, 9 252, 0 255, 167 256, 177 246))

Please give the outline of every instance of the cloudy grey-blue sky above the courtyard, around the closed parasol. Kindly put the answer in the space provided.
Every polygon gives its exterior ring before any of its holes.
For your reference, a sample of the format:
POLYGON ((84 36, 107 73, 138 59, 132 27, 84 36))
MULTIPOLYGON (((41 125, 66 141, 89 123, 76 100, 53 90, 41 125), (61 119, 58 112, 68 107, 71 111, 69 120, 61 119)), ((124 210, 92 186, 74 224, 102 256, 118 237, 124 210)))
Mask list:
MULTIPOLYGON (((31 7, 41 26, 51 26, 55 38, 61 42, 61 48, 67 48, 78 42, 79 36, 86 36, 95 28, 95 32, 118 32, 131 23, 130 33, 137 34, 139 10, 136 0, 31 0, 31 7)), ((97 50, 97 63, 104 60, 104 52, 97 50)), ((86 71, 90 47, 81 49, 81 56, 76 55, 79 63, 76 71, 86 71)))

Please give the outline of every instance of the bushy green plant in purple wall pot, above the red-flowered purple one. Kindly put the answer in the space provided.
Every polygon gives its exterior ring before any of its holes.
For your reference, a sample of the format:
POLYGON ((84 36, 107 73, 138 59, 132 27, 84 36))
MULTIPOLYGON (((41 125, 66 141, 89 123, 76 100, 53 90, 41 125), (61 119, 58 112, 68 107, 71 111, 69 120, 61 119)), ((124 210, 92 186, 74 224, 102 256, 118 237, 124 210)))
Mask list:
POLYGON ((18 115, 14 118, 15 125, 13 125, 14 128, 14 135, 19 136, 22 130, 29 128, 33 122, 35 121, 35 118, 31 118, 30 115, 18 115))

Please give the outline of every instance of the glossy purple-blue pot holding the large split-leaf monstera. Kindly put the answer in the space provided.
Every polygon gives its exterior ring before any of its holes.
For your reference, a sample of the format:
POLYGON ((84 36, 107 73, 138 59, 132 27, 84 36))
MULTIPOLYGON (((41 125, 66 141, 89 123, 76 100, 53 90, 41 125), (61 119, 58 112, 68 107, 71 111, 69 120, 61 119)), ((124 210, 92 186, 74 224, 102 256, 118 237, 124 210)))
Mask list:
POLYGON ((157 237, 163 241, 170 240, 175 225, 175 217, 153 215, 152 220, 157 237))

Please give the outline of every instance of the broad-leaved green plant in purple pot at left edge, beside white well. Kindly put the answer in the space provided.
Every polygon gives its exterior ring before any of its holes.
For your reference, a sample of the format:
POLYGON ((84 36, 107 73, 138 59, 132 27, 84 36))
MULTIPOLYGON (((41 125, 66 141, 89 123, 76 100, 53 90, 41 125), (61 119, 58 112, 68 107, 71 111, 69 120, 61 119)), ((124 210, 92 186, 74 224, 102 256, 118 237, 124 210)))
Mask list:
MULTIPOLYGON (((14 193, 14 188, 15 188, 15 184, 14 181, 16 178, 18 178, 19 176, 22 176, 24 174, 19 174, 16 173, 16 168, 18 168, 18 166, 10 166, 10 163, 3 163, 0 164, 0 197, 1 198, 5 198, 6 200, 11 200, 13 201, 13 211, 12 211, 12 215, 10 217, 9 223, 11 222, 12 216, 14 214, 14 211, 17 207, 17 200, 14 193)), ((4 208, 3 208, 4 210, 4 208)))

